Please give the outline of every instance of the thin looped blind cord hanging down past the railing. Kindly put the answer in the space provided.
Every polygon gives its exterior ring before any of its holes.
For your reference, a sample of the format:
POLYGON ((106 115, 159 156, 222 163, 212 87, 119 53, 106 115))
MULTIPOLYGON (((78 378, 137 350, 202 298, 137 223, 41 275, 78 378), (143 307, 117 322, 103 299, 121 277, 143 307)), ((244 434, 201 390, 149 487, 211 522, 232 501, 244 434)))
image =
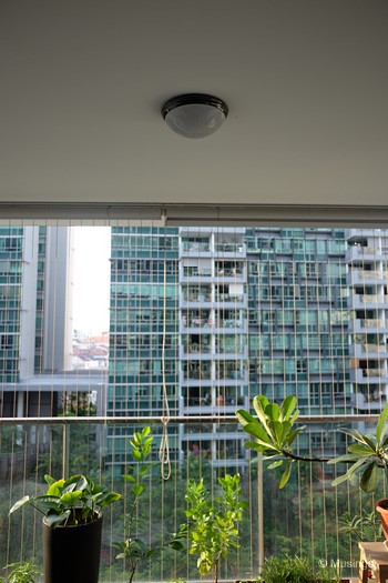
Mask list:
POLYGON ((167 388, 165 381, 165 340, 166 340, 166 308, 167 308, 167 261, 166 261, 166 240, 164 232, 164 265, 163 265, 163 335, 162 335, 162 441, 159 449, 159 460, 163 480, 171 476, 171 460, 169 445, 167 423, 170 421, 170 405, 167 388))

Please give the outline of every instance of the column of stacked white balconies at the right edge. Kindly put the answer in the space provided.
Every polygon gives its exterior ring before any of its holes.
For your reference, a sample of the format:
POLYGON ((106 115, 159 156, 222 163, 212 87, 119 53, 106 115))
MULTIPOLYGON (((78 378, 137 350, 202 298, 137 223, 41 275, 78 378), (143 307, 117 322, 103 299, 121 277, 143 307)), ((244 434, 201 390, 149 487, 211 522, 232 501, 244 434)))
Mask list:
POLYGON ((346 231, 349 373, 357 411, 377 412, 388 396, 388 238, 381 229, 346 231))

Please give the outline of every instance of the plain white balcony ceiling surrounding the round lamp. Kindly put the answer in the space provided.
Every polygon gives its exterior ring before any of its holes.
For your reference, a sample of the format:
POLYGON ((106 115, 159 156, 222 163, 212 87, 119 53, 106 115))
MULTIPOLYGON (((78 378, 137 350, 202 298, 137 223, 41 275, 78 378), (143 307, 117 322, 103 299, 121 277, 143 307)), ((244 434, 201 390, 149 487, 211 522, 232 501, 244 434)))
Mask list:
POLYGON ((388 208, 386 0, 2 0, 0 80, 0 202, 388 208))

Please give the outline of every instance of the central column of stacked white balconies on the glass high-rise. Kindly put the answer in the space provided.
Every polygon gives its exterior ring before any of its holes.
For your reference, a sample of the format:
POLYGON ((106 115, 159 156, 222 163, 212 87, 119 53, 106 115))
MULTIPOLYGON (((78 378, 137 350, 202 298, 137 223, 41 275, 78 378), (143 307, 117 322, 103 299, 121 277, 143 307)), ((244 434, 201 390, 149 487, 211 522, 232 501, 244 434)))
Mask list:
POLYGON ((213 466, 245 463, 236 426, 206 416, 248 408, 248 293, 245 229, 181 228, 178 270, 181 454, 201 452, 213 466))

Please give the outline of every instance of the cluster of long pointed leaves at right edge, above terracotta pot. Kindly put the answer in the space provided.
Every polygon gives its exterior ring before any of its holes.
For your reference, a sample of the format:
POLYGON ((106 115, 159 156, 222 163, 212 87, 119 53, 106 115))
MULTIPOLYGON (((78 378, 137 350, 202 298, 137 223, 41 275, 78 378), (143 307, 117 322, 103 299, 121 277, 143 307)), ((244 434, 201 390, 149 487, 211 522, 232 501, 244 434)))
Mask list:
POLYGON ((388 403, 379 416, 375 435, 363 435, 356 429, 339 430, 350 436, 355 443, 348 445, 348 453, 328 463, 351 463, 348 471, 338 476, 333 485, 351 480, 356 473, 361 473, 360 487, 364 492, 375 492, 378 470, 384 470, 388 479, 388 403))

